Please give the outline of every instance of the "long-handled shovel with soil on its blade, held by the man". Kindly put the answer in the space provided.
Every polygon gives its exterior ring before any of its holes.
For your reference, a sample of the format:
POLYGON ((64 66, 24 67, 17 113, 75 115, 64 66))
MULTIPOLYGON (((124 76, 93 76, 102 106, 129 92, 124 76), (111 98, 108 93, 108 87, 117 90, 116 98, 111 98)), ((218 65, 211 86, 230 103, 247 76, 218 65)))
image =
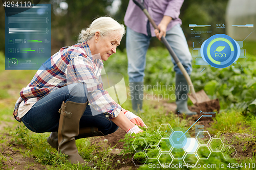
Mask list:
MULTIPOLYGON (((144 7, 143 0, 139 0, 139 1, 141 1, 141 2, 133 0, 133 2, 147 16, 147 18, 151 22, 152 26, 159 31, 155 21, 151 18, 150 14, 148 13, 146 8, 144 7)), ((187 74, 187 71, 185 70, 184 66, 181 64, 179 58, 175 54, 173 48, 169 45, 169 43, 167 42, 167 40, 166 40, 166 38, 164 36, 162 36, 161 41, 163 42, 163 44, 165 45, 165 47, 169 51, 170 56, 172 56, 173 59, 175 60, 176 64, 178 65, 178 67, 182 71, 182 74, 184 75, 184 77, 185 77, 185 79, 187 81, 188 87, 189 87, 190 92, 191 92, 191 94, 188 94, 188 96, 189 96, 189 99, 191 100, 191 102, 195 106, 197 106, 197 108, 194 109, 194 111, 197 111, 198 116, 201 116, 202 112, 219 111, 220 110, 219 100, 218 99, 210 100, 204 90, 201 90, 201 91, 199 91, 197 93, 195 92, 195 89, 194 89, 194 86, 193 86, 193 84, 191 82, 191 79, 190 79, 189 75, 187 74)), ((193 111, 193 110, 191 110, 191 111, 193 111)), ((215 117, 215 114, 213 114, 212 117, 215 117)))

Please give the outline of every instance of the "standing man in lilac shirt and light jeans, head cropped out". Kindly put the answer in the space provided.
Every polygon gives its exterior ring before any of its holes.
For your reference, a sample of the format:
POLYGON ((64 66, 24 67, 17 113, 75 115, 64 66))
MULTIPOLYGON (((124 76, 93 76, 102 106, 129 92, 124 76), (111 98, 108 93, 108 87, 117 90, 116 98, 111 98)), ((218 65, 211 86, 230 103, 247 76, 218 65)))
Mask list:
MULTIPOLYGON (((161 39, 162 36, 165 36, 180 59, 180 62, 184 68, 186 68, 188 75, 191 74, 192 57, 188 49, 186 38, 180 27, 182 22, 179 18, 183 1, 184 0, 144 0, 144 6, 158 25, 160 33, 154 30, 143 11, 136 6, 132 0, 129 2, 124 16, 124 23, 127 26, 126 51, 132 105, 133 110, 137 112, 142 110, 143 79, 146 64, 145 57, 152 37, 161 39)), ((172 61, 176 72, 176 110, 188 115, 197 114, 187 108, 187 93, 189 88, 181 70, 173 59, 172 61)))

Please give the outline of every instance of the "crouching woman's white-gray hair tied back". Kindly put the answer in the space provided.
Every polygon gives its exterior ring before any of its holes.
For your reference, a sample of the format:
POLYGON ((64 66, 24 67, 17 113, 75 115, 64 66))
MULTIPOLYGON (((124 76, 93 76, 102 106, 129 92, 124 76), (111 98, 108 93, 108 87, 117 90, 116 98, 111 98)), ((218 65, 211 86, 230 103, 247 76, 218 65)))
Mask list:
POLYGON ((95 19, 89 28, 81 30, 78 42, 90 40, 97 31, 100 32, 100 36, 102 37, 110 34, 113 31, 119 31, 122 37, 125 34, 125 29, 122 24, 118 23, 111 17, 103 16, 95 19))

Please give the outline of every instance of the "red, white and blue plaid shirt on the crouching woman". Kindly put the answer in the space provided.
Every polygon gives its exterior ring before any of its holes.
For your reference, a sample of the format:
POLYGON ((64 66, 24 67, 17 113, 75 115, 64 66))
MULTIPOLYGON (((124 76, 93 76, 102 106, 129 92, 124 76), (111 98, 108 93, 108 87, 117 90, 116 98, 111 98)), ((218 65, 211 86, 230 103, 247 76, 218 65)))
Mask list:
POLYGON ((92 56, 86 41, 62 47, 42 64, 28 86, 20 91, 20 98, 13 111, 15 119, 21 122, 17 112, 23 100, 24 105, 34 104, 42 96, 72 83, 85 83, 87 98, 92 107, 110 119, 115 118, 122 108, 103 89, 100 76, 102 68, 101 57, 99 54, 92 56))

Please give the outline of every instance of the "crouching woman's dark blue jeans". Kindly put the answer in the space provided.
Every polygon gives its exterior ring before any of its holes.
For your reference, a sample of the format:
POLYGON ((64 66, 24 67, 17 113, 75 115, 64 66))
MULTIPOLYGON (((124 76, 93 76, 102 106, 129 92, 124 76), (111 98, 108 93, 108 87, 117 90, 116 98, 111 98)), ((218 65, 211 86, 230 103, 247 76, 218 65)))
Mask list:
MULTIPOLYGON (((59 126, 59 108, 62 102, 72 101, 86 103, 87 96, 81 95, 84 84, 74 83, 61 87, 40 98, 33 107, 21 119, 24 125, 31 131, 37 133, 56 132, 59 126), (71 95, 73 94, 73 95, 71 95)), ((87 105, 80 119, 80 128, 97 127, 104 135, 114 133, 118 126, 106 118, 103 113, 92 115, 92 106, 87 105)))

